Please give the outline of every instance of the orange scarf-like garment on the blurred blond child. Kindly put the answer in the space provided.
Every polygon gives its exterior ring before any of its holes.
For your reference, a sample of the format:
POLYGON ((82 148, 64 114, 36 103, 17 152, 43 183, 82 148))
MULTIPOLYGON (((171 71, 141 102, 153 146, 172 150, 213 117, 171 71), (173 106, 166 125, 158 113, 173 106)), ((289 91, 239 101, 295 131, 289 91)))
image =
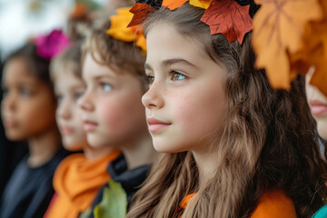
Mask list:
POLYGON ((93 203, 95 194, 110 179, 106 172, 108 163, 119 152, 106 154, 92 162, 84 154, 72 154, 59 164, 54 173, 56 193, 46 218, 76 218, 93 203))

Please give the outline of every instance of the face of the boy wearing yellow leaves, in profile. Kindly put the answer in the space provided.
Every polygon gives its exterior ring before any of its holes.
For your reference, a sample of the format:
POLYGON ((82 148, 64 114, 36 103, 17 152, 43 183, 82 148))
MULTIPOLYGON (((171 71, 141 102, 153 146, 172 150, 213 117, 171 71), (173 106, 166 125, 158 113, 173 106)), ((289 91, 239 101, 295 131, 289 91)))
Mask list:
POLYGON ((146 134, 143 92, 137 76, 98 64, 88 53, 83 79, 87 89, 78 104, 91 146, 124 146, 146 134))

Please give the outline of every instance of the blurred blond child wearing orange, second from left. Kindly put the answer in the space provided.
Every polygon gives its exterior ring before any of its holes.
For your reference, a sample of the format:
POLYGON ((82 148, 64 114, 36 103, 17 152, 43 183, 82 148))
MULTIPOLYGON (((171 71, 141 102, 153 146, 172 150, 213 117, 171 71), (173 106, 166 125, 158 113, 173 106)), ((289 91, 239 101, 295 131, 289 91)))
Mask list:
POLYGON ((120 154, 110 144, 91 147, 86 142, 82 113, 77 105, 86 88, 81 70, 82 42, 75 42, 56 56, 50 67, 58 99, 56 121, 64 148, 83 154, 71 154, 59 164, 54 173, 55 195, 45 217, 73 218, 86 210, 110 178, 107 164, 120 154))

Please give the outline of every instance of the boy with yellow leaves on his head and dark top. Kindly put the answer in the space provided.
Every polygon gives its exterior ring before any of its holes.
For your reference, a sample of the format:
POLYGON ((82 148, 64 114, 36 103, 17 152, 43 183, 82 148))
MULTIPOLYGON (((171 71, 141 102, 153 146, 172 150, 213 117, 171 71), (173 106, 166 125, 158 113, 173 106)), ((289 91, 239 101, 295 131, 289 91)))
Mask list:
POLYGON ((146 128, 141 97, 147 89, 144 74, 145 39, 142 30, 126 27, 133 14, 117 9, 110 22, 87 40, 83 77, 87 91, 79 100, 88 124, 87 139, 93 146, 115 144, 122 155, 109 163, 112 179, 80 217, 124 217, 128 204, 147 176, 155 158, 146 128), (98 132, 101 117, 106 138, 98 132))

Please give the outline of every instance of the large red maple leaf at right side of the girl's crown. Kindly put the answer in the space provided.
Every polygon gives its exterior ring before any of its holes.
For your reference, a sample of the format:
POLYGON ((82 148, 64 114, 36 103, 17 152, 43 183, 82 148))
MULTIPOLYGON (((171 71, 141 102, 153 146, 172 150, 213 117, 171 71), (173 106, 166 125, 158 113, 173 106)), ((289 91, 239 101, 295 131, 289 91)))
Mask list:
POLYGON ((244 35, 252 30, 250 5, 241 6, 233 0, 213 1, 205 10, 201 21, 210 26, 211 35, 223 34, 229 43, 243 42, 244 35))

